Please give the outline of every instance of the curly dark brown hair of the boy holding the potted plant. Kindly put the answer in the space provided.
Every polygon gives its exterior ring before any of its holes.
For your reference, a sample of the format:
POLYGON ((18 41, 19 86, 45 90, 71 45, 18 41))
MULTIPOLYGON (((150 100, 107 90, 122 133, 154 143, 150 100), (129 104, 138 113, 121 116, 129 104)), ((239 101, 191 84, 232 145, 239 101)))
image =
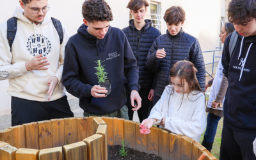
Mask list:
POLYGON ((82 14, 85 20, 92 22, 97 21, 111 21, 113 14, 108 3, 104 0, 86 0, 83 3, 82 14))

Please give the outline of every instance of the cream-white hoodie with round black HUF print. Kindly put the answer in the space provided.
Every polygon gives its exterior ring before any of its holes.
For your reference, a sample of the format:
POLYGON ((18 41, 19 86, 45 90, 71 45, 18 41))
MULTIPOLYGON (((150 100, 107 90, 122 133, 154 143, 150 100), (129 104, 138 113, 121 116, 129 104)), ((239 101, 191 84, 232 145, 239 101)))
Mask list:
POLYGON ((18 19, 17 33, 12 45, 12 52, 7 40, 7 22, 0 24, 0 80, 9 79, 7 92, 21 99, 48 101, 49 77, 59 79, 49 101, 60 99, 65 95, 61 83, 65 55, 65 45, 69 35, 63 27, 63 43, 60 45, 58 32, 54 28, 49 13, 42 24, 33 24, 23 15, 24 10, 17 6, 13 17, 18 19), (44 37, 44 38, 43 38, 44 37), (46 47, 45 47, 46 46, 46 47), (48 70, 31 70, 25 67, 35 55, 47 56, 50 65, 48 70))

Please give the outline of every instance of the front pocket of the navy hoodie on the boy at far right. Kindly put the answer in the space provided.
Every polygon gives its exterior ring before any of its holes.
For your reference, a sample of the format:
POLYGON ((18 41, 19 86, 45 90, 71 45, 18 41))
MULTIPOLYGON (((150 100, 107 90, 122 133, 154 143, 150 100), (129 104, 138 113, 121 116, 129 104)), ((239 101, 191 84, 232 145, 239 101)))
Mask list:
POLYGON ((247 129, 256 128, 256 111, 250 97, 242 97, 228 92, 228 120, 234 125, 247 129))

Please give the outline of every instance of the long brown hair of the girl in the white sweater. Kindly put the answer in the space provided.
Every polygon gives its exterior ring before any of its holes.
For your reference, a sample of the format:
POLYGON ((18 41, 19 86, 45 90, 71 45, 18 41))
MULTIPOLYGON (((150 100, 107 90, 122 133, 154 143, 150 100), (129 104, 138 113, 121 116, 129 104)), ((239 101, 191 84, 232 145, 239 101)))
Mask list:
MULTIPOLYGON (((202 90, 201 90, 200 85, 196 79, 196 72, 197 72, 197 70, 196 70, 194 64, 191 63, 190 61, 185 61, 185 60, 178 61, 177 63, 175 63, 173 65, 173 67, 170 70, 170 78, 172 78, 172 77, 180 78, 181 84, 182 84, 182 92, 184 92, 184 80, 186 80, 188 85, 191 86, 191 87, 189 87, 188 96, 189 96, 189 94, 197 95, 198 93, 202 92, 202 90), (199 91, 199 92, 193 94, 192 92, 195 90, 199 91)), ((172 81, 170 81, 170 84, 172 84, 172 81)), ((173 87, 170 90, 171 90, 171 92, 170 92, 170 97, 171 97, 171 95, 173 95, 175 90, 173 87)), ((202 92, 202 93, 204 93, 204 92, 202 92)), ((170 99, 170 97, 169 97, 169 99, 170 99)), ((182 104, 183 99, 184 99, 184 94, 182 93, 182 99, 181 99, 180 106, 182 104)), ((189 97, 188 97, 188 99, 189 99, 189 97)), ((195 100, 198 100, 198 99, 199 99, 199 97, 195 100)), ((191 100, 191 101, 195 101, 195 100, 191 100)))

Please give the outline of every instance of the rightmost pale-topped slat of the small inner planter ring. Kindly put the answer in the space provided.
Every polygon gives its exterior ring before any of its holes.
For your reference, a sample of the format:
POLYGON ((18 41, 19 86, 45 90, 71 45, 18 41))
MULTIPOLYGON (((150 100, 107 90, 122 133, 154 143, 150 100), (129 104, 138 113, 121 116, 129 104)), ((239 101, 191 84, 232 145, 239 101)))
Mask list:
POLYGON ((99 124, 99 127, 96 131, 97 134, 103 136, 103 152, 104 152, 104 160, 108 159, 108 126, 106 124, 99 124))

